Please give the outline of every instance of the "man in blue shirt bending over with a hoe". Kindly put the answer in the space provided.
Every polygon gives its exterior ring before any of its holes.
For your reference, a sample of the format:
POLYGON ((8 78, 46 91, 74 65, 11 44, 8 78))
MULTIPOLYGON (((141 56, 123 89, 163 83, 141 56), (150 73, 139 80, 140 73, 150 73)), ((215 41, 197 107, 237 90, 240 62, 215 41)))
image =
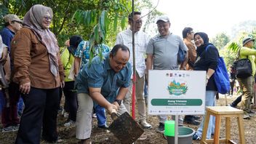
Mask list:
POLYGON ((76 77, 75 87, 79 109, 76 118, 76 138, 80 143, 91 143, 92 109, 94 102, 103 106, 108 113, 119 115, 127 111, 122 100, 128 92, 132 74, 128 62, 129 48, 117 44, 101 61, 96 56, 92 63, 85 64, 76 77))

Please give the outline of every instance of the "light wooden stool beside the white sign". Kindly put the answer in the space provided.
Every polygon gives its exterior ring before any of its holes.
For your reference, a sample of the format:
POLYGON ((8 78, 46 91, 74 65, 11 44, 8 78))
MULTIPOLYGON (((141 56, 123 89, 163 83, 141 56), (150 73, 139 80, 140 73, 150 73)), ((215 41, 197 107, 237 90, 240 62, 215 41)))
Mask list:
POLYGON ((236 117, 238 126, 239 126, 240 143, 245 144, 243 114, 244 114, 244 111, 241 111, 237 108, 232 108, 231 106, 207 107, 207 115, 205 116, 205 119, 204 119, 204 128, 203 128, 203 134, 201 137, 201 143, 214 143, 214 144, 219 144, 220 142, 234 143, 231 140, 231 117, 236 117), (213 139, 206 140, 210 115, 215 116, 215 135, 213 139), (220 139, 219 137, 220 137, 221 117, 225 117, 225 138, 220 139))

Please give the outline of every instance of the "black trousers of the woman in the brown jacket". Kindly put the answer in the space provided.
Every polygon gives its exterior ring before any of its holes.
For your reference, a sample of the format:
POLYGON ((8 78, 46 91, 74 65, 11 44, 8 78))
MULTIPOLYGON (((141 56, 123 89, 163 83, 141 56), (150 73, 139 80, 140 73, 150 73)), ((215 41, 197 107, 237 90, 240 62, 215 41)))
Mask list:
MULTIPOLYGON (((18 85, 17 85, 18 87, 18 85)), ((15 143, 39 144, 42 137, 48 142, 57 141, 57 110, 59 88, 36 89, 22 95, 25 108, 15 143)))

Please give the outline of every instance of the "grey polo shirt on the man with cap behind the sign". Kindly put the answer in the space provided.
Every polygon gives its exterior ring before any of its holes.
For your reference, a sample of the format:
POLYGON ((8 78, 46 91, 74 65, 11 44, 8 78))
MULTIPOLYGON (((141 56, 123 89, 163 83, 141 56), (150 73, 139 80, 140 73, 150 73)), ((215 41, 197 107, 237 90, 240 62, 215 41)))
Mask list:
POLYGON ((179 70, 177 52, 179 47, 188 51, 180 36, 169 33, 169 36, 154 36, 146 50, 147 55, 153 55, 153 69, 156 70, 179 70))

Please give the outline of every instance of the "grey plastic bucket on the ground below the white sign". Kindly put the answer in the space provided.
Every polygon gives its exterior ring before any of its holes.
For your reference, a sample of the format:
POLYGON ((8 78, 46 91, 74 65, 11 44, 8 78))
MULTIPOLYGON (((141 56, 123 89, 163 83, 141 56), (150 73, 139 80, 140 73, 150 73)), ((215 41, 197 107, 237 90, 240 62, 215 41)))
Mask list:
MULTIPOLYGON (((191 144, 195 131, 189 127, 179 127, 178 144, 191 144)), ((175 144, 175 136, 167 135, 168 144, 175 144)))

